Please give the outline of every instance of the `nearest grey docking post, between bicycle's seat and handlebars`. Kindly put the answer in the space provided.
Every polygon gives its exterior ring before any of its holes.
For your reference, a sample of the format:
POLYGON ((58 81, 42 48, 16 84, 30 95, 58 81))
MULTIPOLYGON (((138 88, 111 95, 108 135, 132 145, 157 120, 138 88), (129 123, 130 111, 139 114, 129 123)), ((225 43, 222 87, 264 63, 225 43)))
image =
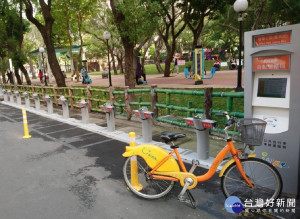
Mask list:
POLYGON ((197 155, 200 160, 209 159, 209 129, 217 124, 214 120, 205 119, 202 114, 185 118, 188 126, 194 126, 197 135, 197 155))

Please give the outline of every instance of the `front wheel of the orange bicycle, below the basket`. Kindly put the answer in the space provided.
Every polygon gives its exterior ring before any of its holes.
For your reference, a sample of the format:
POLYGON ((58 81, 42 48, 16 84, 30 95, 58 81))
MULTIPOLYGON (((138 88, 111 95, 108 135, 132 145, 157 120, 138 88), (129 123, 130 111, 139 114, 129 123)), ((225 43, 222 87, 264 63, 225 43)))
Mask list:
POLYGON ((278 198, 282 190, 282 179, 275 167, 257 158, 241 160, 241 164, 254 186, 250 187, 247 184, 236 163, 233 163, 226 169, 221 179, 222 190, 226 197, 236 196, 243 204, 246 200, 251 200, 255 205, 259 200, 260 206, 253 205, 253 207, 263 207, 267 200, 278 198))

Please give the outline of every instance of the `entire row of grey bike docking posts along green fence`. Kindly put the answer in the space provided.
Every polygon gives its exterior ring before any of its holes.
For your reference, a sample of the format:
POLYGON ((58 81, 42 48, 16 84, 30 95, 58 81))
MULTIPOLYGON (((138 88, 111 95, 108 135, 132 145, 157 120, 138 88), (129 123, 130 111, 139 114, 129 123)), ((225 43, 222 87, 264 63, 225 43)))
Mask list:
MULTIPOLYGON (((10 102, 11 104, 15 104, 14 96, 16 97, 16 104, 21 106, 21 94, 19 91, 14 91, 12 93, 11 90, 2 90, 0 86, 0 96, 1 94, 4 97, 5 102, 10 102)), ((27 92, 22 93, 24 98, 25 107, 30 108, 30 99, 27 92)), ((36 110, 40 110, 40 100, 39 95, 37 93, 32 94, 32 99, 34 100, 34 105, 36 110)), ((49 95, 44 95, 44 101, 47 103, 47 111, 48 114, 53 114, 53 101, 49 95)), ((62 113, 63 118, 69 118, 69 105, 68 100, 61 96, 58 99, 58 102, 62 106, 62 113)), ((82 99, 78 101, 77 106, 81 109, 82 115, 82 123, 88 124, 89 123, 89 110, 88 110, 88 103, 82 99)), ((100 108, 106 113, 106 120, 107 120, 107 130, 109 132, 115 131, 115 107, 111 104, 103 104, 100 108)), ((152 141, 152 119, 154 117, 154 113, 148 111, 147 107, 141 107, 138 110, 134 110, 134 114, 136 117, 140 118, 142 121, 142 134, 143 134, 143 142, 148 143, 152 141)), ((201 160, 205 160, 209 158, 209 131, 208 129, 213 128, 216 123, 213 120, 207 120, 205 117, 193 117, 193 118, 185 118, 186 124, 188 126, 195 127, 196 134, 197 134, 197 155, 198 158, 201 160)))

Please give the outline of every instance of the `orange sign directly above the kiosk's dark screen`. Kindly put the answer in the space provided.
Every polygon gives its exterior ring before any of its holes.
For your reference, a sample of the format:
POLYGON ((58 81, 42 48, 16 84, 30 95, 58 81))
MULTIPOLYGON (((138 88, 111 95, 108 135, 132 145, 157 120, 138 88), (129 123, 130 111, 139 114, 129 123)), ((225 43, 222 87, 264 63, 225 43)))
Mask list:
POLYGON ((253 71, 289 70, 290 56, 264 56, 253 58, 253 71))

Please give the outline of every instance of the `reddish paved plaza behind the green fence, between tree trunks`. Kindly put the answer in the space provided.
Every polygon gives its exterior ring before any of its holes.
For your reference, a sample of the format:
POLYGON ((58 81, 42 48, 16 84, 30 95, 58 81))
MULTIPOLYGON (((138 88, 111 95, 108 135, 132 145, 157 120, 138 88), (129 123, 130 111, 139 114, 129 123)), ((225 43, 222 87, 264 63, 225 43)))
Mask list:
MULTIPOLYGON (((210 75, 208 72, 207 75, 210 75)), ((101 75, 91 75, 93 86, 107 87, 108 79, 102 79, 101 75)), ((244 77, 242 77, 244 78, 244 77)), ((212 79, 203 79, 203 85, 195 85, 194 79, 186 79, 184 73, 173 73, 171 77, 164 77, 162 74, 147 75, 148 85, 138 85, 136 87, 150 87, 151 84, 156 84, 159 88, 235 88, 237 85, 237 71, 217 71, 212 79)), ((39 79, 33 79, 34 84, 41 84, 39 79)), ((70 77, 66 79, 67 85, 82 85, 81 82, 73 82, 70 77)), ((114 87, 123 87, 125 85, 124 75, 112 74, 112 85, 114 87)))

